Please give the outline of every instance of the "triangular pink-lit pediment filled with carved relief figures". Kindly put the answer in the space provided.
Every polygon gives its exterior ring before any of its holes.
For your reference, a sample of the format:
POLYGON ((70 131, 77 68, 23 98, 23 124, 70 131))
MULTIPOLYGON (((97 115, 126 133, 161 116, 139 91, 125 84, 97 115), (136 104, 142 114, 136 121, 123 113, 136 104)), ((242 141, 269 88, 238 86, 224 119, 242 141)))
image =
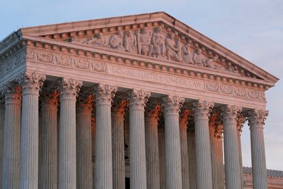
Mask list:
POLYGON ((111 49, 238 77, 274 86, 278 78, 203 36, 165 12, 104 18, 21 29, 21 35, 111 49))

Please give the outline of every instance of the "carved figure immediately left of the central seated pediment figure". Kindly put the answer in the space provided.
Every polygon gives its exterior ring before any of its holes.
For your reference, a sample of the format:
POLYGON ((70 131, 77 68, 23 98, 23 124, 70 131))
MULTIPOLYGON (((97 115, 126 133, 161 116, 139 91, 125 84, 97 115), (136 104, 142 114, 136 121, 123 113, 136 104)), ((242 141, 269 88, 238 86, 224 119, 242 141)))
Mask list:
POLYGON ((146 27, 137 32, 137 52, 141 55, 152 55, 151 35, 146 27))

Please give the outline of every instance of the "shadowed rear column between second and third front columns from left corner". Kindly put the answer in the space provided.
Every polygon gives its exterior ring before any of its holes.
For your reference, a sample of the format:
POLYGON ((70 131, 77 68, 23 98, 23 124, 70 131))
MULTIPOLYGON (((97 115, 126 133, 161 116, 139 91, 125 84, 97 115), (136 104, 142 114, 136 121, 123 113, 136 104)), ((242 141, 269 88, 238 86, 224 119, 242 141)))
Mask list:
POLYGON ((77 100, 77 188, 92 189, 93 95, 79 94, 77 100))

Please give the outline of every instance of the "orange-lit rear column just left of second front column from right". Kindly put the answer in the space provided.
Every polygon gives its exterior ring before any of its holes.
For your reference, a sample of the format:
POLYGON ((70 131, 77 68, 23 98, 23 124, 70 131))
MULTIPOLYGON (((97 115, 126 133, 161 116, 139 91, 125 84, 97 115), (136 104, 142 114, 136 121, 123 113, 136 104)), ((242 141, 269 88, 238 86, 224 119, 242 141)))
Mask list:
POLYGON ((217 123, 215 127, 215 157, 216 157, 216 172, 217 175, 217 187, 219 189, 225 188, 224 183, 224 162, 223 162, 223 125, 217 123))

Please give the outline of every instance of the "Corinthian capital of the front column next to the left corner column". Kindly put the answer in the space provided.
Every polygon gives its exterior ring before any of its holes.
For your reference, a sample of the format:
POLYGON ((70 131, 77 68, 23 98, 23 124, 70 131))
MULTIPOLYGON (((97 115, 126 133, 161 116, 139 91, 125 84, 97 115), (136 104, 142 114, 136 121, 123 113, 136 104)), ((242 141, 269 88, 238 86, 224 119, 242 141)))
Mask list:
POLYGON ((62 78, 58 82, 61 99, 76 99, 81 87, 81 81, 62 78))

